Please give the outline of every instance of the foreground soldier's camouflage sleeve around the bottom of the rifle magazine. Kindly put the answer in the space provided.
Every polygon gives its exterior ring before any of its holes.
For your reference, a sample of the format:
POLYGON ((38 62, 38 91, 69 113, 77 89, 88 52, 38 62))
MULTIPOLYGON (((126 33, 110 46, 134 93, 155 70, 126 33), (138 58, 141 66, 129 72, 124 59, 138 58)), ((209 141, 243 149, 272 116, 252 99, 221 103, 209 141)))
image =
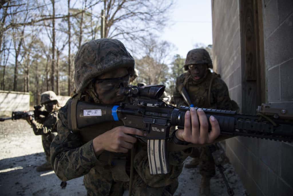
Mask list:
POLYGON ((191 155, 192 148, 168 153, 170 172, 168 174, 151 175, 147 155, 147 146, 144 145, 138 150, 138 153, 134 157, 134 168, 148 186, 164 187, 173 183, 174 180, 177 180, 178 176, 182 172, 183 162, 189 155, 191 155))

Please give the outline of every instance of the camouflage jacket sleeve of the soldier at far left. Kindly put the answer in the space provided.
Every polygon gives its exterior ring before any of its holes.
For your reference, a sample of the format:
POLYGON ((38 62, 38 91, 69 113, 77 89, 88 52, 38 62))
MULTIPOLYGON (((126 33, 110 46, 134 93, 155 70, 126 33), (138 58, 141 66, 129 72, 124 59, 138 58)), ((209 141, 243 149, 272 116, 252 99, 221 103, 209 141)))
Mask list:
POLYGON ((43 123, 39 123, 36 120, 31 120, 30 125, 33 128, 35 135, 44 135, 51 132, 56 132, 58 112, 54 111, 50 113, 43 123))

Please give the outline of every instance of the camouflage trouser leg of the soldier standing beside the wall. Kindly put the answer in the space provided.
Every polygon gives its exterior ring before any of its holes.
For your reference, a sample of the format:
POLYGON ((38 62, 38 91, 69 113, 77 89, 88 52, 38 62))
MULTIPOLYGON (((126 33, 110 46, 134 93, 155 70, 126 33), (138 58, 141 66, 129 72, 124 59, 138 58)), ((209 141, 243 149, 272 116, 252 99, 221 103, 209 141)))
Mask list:
MULTIPOLYGON (((214 145, 214 144, 212 144, 214 145)), ((215 162, 211 150, 208 146, 193 148, 192 158, 199 158, 200 175, 213 177, 216 174, 215 162)))

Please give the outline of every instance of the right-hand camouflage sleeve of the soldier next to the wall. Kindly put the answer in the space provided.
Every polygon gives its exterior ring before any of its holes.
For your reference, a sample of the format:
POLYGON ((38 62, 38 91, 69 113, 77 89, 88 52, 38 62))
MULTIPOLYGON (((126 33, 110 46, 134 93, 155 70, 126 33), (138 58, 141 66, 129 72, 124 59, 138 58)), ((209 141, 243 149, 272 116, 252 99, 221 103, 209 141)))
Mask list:
POLYGON ((217 109, 232 110, 228 87, 221 78, 215 78, 212 85, 212 93, 217 103, 217 109))

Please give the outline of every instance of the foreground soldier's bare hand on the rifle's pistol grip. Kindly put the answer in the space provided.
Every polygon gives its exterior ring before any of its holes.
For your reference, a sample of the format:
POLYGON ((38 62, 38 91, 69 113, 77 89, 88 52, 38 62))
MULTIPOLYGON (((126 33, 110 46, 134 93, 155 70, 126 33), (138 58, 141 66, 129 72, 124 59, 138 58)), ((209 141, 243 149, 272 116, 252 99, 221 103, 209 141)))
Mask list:
POLYGON ((115 127, 93 139, 93 149, 96 156, 102 153, 103 150, 127 153, 137 141, 137 138, 128 134, 144 136, 141 130, 135 128, 125 126, 115 127))

